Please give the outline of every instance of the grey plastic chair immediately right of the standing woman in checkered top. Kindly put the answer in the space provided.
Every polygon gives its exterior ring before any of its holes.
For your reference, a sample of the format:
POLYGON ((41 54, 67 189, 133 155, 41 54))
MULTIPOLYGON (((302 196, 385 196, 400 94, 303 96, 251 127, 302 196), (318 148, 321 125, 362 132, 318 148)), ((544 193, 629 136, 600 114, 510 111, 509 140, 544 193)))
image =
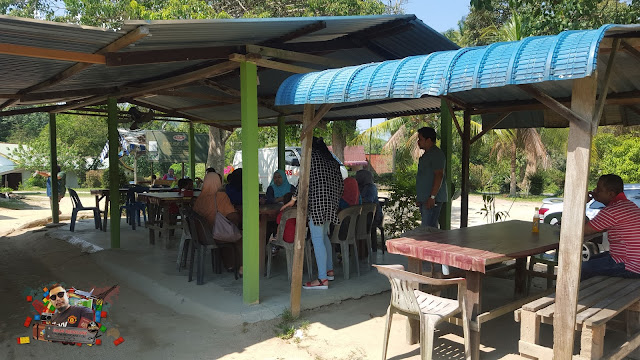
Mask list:
POLYGON ((331 243, 339 244, 342 252, 342 270, 344 279, 349 280, 349 246, 353 246, 355 255, 356 271, 360 276, 360 266, 358 264, 358 245, 356 244, 356 228, 358 225, 358 215, 362 212, 362 205, 350 206, 338 213, 340 225, 333 229, 331 243))

